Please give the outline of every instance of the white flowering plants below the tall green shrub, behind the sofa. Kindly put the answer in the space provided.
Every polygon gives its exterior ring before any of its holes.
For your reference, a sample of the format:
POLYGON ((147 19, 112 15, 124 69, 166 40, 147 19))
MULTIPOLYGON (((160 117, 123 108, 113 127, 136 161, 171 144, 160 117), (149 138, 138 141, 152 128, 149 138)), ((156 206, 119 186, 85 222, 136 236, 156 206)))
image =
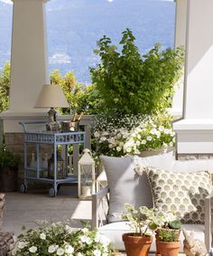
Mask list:
POLYGON ((167 112, 157 116, 97 116, 93 128, 93 149, 97 156, 125 156, 173 147, 175 133, 171 121, 167 112))

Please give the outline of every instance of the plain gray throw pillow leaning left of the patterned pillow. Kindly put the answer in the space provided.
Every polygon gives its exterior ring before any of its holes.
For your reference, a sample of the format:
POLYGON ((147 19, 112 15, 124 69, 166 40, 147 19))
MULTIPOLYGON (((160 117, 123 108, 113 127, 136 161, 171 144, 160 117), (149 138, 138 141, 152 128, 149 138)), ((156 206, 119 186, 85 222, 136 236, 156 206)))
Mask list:
POLYGON ((124 204, 134 207, 153 206, 150 185, 145 173, 137 175, 134 171, 134 159, 131 156, 100 156, 106 171, 109 186, 108 222, 121 221, 124 204))

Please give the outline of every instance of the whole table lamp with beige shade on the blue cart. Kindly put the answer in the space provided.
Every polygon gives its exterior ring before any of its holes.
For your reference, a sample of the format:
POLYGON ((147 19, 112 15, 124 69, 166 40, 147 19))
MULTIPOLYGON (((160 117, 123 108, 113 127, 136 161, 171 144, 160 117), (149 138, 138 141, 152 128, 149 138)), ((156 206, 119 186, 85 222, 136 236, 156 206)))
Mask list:
POLYGON ((42 91, 36 101, 34 108, 47 109, 48 111, 48 123, 46 125, 47 130, 57 131, 60 128, 60 124, 56 120, 57 111, 54 108, 69 108, 68 100, 65 98, 63 91, 58 84, 44 84, 42 91))

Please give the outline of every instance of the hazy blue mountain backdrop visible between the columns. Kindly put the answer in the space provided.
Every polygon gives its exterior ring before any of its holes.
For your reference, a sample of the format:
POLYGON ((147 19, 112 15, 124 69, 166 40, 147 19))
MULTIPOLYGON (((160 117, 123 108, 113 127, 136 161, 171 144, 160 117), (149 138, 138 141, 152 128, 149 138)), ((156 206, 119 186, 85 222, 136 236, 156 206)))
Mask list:
MULTIPOLYGON (((0 2, 0 67, 10 60, 12 8, 0 2)), ((73 71, 88 84, 93 51, 104 34, 119 43, 130 28, 143 54, 155 43, 173 46, 175 5, 158 0, 51 0, 46 4, 50 71, 73 71)))

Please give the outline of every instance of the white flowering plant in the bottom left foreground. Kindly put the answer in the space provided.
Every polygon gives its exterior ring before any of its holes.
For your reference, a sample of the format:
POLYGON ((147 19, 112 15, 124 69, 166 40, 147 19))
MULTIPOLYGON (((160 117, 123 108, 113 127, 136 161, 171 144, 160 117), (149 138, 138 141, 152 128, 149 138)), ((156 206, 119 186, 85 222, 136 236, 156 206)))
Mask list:
POLYGON ((69 222, 40 222, 37 229, 21 234, 14 255, 108 256, 113 247, 97 230, 73 229, 69 222))

